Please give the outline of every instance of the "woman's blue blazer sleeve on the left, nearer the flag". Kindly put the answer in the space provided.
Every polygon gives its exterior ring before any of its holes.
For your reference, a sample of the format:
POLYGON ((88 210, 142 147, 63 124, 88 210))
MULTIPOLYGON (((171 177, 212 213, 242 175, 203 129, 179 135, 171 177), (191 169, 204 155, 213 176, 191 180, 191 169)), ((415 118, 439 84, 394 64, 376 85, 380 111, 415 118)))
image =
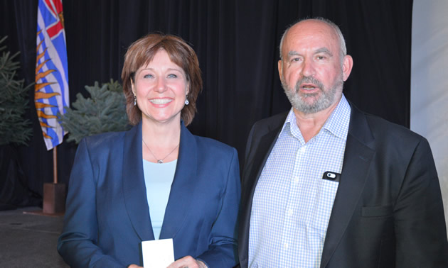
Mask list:
POLYGON ((124 267, 97 246, 96 182, 87 143, 75 155, 58 252, 70 267, 124 267))

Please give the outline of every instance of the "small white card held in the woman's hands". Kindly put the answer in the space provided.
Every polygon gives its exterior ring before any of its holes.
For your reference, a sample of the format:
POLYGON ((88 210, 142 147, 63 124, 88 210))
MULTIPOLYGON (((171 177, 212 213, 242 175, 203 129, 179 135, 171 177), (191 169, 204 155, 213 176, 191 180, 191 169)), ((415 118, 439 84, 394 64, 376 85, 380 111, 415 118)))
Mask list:
POLYGON ((174 262, 173 240, 142 241, 143 266, 145 268, 168 267, 174 262))

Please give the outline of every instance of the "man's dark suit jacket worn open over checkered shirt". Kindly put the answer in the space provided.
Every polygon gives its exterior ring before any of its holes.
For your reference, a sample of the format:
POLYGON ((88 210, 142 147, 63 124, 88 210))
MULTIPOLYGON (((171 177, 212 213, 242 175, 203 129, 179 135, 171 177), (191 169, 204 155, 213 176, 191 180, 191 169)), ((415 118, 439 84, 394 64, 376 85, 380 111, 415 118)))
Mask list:
MULTIPOLYGON (((427 140, 351 108, 321 267, 448 267, 442 197, 427 140)), ((286 116, 255 123, 247 141, 238 240, 241 267, 248 265, 255 186, 286 116)))

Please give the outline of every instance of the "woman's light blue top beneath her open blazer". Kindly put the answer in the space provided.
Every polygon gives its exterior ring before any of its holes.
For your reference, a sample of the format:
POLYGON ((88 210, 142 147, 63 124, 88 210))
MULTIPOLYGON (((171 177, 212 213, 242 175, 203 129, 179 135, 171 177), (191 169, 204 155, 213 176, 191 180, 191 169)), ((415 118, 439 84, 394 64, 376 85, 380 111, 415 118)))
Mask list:
POLYGON ((148 200, 149 217, 156 240, 159 239, 161 225, 164 223, 166 204, 174 180, 176 164, 177 160, 162 164, 143 160, 146 199, 148 200))

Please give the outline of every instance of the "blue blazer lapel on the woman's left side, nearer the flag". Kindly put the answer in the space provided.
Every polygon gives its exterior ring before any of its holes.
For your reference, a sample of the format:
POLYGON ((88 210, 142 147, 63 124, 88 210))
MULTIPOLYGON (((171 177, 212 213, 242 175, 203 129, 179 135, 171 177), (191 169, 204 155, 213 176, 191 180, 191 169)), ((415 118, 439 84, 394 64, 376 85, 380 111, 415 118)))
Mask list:
POLYGON ((124 204, 141 240, 154 240, 143 174, 142 122, 124 136, 122 183, 124 204))

